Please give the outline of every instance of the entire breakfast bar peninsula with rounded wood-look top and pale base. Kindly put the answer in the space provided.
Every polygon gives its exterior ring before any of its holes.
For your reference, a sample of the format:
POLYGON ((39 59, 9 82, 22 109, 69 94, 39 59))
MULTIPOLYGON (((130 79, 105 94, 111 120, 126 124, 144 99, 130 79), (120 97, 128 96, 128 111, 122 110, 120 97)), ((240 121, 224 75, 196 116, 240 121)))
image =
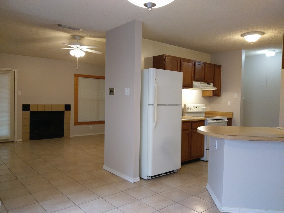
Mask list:
POLYGON ((284 212, 283 128, 201 126, 210 136, 206 188, 220 212, 284 212))

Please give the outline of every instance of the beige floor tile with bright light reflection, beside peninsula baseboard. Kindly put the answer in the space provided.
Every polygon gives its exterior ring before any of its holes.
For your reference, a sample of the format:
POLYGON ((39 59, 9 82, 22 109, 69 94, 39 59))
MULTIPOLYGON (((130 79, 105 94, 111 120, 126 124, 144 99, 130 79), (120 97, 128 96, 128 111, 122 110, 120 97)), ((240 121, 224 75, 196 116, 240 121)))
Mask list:
POLYGON ((198 197, 190 197, 186 200, 179 202, 179 204, 195 210, 196 212, 204 212, 205 210, 215 206, 215 204, 204 201, 198 197))

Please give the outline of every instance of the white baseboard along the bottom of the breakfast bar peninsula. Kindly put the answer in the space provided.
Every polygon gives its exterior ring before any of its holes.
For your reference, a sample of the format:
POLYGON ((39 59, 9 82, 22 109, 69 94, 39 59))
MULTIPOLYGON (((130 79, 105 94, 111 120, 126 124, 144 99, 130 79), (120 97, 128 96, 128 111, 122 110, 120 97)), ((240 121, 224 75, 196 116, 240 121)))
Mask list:
POLYGON ((284 210, 270 210, 270 209, 256 209, 256 208, 237 208, 237 207, 229 207, 229 206, 222 206, 215 196, 214 192, 210 188, 210 186, 206 185, 206 189, 208 190, 209 194, 211 195, 213 201, 215 202, 218 210, 220 212, 228 212, 228 213, 284 213, 284 210))

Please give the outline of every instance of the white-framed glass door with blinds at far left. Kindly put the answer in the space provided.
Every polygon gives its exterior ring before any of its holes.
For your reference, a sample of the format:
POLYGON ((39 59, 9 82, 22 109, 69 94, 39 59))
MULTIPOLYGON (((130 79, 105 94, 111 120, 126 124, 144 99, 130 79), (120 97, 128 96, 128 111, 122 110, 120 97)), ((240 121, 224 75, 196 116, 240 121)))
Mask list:
POLYGON ((15 72, 0 70, 0 142, 14 141, 15 72))

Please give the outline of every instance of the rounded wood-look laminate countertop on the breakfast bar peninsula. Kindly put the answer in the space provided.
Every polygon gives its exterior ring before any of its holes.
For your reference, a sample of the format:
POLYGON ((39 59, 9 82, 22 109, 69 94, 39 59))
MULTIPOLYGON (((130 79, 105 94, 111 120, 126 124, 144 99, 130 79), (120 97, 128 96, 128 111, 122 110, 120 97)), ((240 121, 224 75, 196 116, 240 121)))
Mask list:
POLYGON ((284 141, 284 131, 270 127, 201 126, 197 131, 203 135, 231 140, 284 141))

